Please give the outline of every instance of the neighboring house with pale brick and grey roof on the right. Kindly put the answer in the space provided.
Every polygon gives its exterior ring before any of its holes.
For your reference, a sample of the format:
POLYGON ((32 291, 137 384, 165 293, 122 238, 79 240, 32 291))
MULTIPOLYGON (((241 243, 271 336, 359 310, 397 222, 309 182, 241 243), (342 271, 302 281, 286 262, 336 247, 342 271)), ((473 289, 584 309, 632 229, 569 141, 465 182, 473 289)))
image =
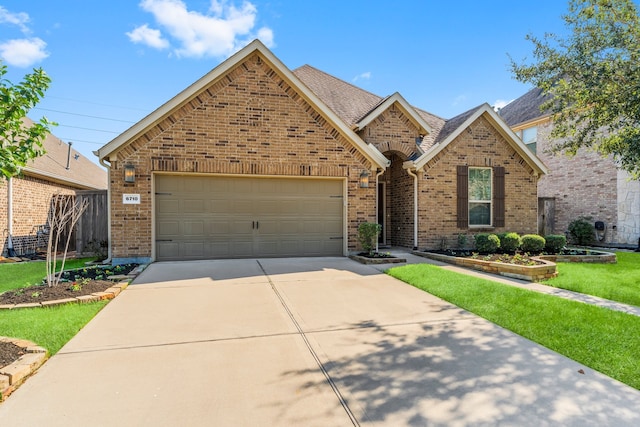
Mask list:
POLYGON ((640 239, 640 182, 610 157, 581 149, 573 157, 551 154, 553 123, 540 106, 547 98, 532 89, 500 110, 500 115, 549 173, 538 184, 541 234, 564 234, 569 223, 590 218, 599 244, 637 245, 640 239))

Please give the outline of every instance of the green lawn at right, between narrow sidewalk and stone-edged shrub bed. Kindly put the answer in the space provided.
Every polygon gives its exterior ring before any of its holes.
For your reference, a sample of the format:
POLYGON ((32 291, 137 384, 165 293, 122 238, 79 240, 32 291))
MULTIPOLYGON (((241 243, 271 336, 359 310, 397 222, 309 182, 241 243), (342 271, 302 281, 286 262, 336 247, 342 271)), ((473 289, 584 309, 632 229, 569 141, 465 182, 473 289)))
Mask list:
POLYGON ((640 306, 640 253, 617 252, 617 264, 558 263, 556 288, 640 306))

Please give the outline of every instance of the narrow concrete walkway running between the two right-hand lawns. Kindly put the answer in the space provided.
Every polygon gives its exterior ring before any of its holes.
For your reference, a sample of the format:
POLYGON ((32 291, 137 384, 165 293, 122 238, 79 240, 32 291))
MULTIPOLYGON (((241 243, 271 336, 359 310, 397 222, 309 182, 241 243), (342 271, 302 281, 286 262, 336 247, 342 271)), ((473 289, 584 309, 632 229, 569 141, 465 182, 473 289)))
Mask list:
MULTIPOLYGON (((407 264, 432 264, 441 266, 446 268, 447 270, 455 271, 461 274, 468 274, 471 276, 481 277, 487 280, 493 280, 494 282, 503 283, 505 285, 516 286, 522 289, 528 289, 530 291, 540 292, 543 294, 554 295, 560 298, 570 299, 574 301, 583 302, 585 304, 597 305, 599 307, 608 308, 610 310, 621 311, 627 314, 632 314, 634 316, 640 316, 640 307, 636 307, 629 304, 623 304, 616 301, 611 301, 608 299, 581 294, 579 292, 568 291, 566 289, 554 288, 552 286, 547 286, 541 283, 528 282, 526 280, 512 279, 505 276, 498 276, 495 274, 484 273, 482 271, 471 270, 467 268, 462 268, 458 266, 454 266, 451 264, 447 264, 444 262, 432 260, 429 258, 424 258, 421 256, 411 254, 407 249, 404 248, 392 248, 390 252, 399 257, 407 260, 407 264)), ((399 266, 403 264, 379 264, 373 265, 379 271, 384 271, 393 266, 399 266)))

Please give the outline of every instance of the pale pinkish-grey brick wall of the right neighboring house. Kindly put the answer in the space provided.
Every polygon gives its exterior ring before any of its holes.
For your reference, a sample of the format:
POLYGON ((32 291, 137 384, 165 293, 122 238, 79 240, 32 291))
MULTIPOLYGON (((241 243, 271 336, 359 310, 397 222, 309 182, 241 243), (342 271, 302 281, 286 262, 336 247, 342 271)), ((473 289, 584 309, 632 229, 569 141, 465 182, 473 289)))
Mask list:
POLYGON ((618 171, 613 161, 585 149, 574 157, 550 154, 551 128, 551 122, 538 126, 537 151, 549 168, 549 174, 540 179, 538 196, 555 198, 553 232, 564 234, 571 221, 586 216, 606 223, 605 242, 617 241, 618 171))

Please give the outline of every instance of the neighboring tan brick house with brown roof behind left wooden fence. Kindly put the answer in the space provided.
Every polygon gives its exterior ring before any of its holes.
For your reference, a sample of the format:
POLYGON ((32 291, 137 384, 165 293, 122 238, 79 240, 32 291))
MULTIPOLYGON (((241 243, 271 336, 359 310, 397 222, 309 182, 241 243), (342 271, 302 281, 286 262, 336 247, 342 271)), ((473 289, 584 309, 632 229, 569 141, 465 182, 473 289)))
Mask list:
MULTIPOLYGON (((24 122, 33 124, 28 118, 24 122)), ((9 235, 17 255, 33 253, 43 245, 46 249, 47 215, 53 195, 107 188, 106 171, 70 144, 49 134, 43 145, 46 153, 31 160, 21 175, 0 182, 3 255, 8 254, 9 235)))

